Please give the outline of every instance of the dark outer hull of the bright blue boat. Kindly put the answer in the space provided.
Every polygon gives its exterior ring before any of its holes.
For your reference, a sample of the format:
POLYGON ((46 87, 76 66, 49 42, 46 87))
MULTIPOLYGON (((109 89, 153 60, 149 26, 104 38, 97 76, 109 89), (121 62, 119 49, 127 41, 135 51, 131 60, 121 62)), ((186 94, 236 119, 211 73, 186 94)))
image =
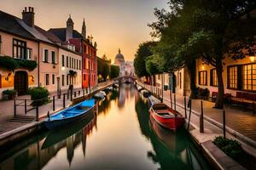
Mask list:
POLYGON ((68 124, 71 124, 73 122, 78 122, 81 119, 84 119, 86 116, 88 116, 90 111, 93 111, 94 107, 91 107, 89 110, 84 111, 83 114, 80 114, 79 116, 73 116, 70 118, 66 118, 63 120, 54 120, 49 122, 44 122, 44 126, 47 127, 49 130, 58 129, 63 126, 67 126, 68 124))

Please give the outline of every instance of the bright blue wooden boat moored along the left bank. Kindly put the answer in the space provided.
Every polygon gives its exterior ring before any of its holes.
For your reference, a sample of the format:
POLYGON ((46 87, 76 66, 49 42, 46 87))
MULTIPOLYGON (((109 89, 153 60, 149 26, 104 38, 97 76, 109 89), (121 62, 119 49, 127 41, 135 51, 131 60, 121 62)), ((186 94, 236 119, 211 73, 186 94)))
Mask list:
POLYGON ((63 127, 69 123, 77 122, 93 111, 95 99, 84 100, 78 105, 73 105, 63 111, 59 111, 44 120, 44 125, 49 130, 63 127))

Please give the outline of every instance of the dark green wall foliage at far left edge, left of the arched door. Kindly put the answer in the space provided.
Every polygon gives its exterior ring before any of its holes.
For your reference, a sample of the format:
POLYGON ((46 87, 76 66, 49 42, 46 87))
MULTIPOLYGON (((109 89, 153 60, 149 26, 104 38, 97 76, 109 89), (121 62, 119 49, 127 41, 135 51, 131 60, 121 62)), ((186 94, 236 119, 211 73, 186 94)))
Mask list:
POLYGON ((14 58, 9 56, 0 57, 0 68, 7 71, 15 71, 19 67, 19 64, 14 58))

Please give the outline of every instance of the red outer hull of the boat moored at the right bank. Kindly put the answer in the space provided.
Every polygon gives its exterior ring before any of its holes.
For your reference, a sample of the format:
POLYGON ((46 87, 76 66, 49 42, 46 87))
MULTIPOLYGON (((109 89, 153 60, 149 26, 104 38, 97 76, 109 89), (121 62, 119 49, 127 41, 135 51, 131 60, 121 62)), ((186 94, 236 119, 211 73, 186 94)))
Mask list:
POLYGON ((155 113, 155 111, 150 108, 149 110, 151 116, 156 122, 158 122, 162 127, 166 127, 171 130, 177 130, 179 127, 183 126, 184 118, 183 116, 173 116, 172 118, 163 118, 155 113))

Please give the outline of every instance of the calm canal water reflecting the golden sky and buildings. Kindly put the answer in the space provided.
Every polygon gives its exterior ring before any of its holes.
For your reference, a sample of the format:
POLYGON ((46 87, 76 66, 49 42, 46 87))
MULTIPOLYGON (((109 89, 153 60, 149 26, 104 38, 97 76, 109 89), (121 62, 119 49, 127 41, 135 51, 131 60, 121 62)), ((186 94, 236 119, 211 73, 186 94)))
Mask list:
POLYGON ((133 85, 83 121, 27 138, 0 154, 0 169, 209 169, 184 129, 172 133, 150 119, 133 85))

